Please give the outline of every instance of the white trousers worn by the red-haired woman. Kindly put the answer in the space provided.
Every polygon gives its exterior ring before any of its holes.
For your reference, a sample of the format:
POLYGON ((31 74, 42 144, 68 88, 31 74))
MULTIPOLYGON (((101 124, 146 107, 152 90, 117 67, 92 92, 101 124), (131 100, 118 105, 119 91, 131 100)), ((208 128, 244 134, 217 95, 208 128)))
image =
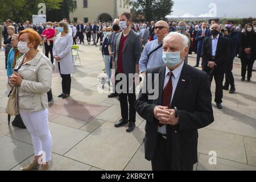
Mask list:
POLYGON ((19 110, 27 130, 31 134, 36 156, 45 155, 43 162, 49 162, 52 155, 52 136, 49 131, 48 109, 35 112, 19 110))

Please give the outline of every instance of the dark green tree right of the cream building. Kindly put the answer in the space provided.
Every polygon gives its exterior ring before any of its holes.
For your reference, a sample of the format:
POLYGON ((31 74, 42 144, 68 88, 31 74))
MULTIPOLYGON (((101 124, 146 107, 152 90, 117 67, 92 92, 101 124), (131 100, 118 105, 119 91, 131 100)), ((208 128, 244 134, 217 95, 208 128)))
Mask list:
POLYGON ((172 0, 131 0, 130 3, 135 18, 143 15, 147 22, 165 19, 164 17, 172 12, 174 6, 172 0))

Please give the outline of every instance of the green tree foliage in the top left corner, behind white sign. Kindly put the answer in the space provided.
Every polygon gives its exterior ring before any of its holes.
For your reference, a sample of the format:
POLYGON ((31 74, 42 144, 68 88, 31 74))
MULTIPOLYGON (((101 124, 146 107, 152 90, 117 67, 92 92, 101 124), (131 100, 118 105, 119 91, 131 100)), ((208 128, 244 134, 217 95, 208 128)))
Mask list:
POLYGON ((45 3, 47 11, 60 9, 63 0, 1 0, 0 21, 12 19, 15 22, 32 20, 33 14, 38 14, 38 4, 45 3))

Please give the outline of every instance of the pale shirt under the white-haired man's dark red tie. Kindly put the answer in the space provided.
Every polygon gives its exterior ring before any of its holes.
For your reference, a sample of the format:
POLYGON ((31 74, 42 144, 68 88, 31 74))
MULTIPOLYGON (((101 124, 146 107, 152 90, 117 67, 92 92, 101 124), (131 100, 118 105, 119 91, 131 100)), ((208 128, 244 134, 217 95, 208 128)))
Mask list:
MULTIPOLYGON (((171 102, 172 102, 172 99, 174 98, 175 90, 176 90, 177 84, 180 80, 180 75, 181 75, 181 71, 183 69, 183 66, 184 66, 184 62, 179 67, 174 69, 174 71, 172 71, 173 75, 172 75, 172 98, 171 98, 171 102)), ((170 72, 170 70, 168 69, 168 67, 166 67, 166 77, 164 77, 164 87, 163 87, 163 89, 166 87, 166 85, 169 81, 169 78, 170 78, 170 76, 168 74, 169 72, 170 72)), ((158 126, 158 133, 166 135, 166 125, 164 125, 162 127, 158 126)))

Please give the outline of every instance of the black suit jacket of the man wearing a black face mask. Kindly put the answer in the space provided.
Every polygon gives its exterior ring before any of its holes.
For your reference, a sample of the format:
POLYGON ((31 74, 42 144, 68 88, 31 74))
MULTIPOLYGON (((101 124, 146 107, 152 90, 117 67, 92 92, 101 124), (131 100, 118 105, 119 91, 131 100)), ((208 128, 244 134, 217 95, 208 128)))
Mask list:
MULTIPOLYGON (((203 47, 202 47, 202 57, 203 57, 203 66, 204 69, 208 68, 208 61, 212 60, 212 36, 204 39, 203 47)), ((216 67, 214 69, 225 70, 226 61, 229 55, 229 39, 223 36, 219 36, 216 50, 216 67)))

